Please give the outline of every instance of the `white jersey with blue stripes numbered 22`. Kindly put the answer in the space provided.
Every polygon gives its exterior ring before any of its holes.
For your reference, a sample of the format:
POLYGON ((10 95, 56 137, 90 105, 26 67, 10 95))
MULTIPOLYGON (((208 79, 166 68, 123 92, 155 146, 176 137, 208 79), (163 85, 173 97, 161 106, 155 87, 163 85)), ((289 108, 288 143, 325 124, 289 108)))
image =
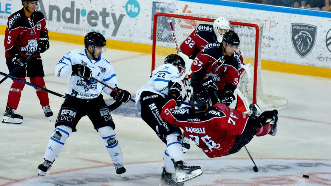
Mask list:
POLYGON ((172 64, 164 64, 153 70, 147 84, 141 87, 136 94, 137 110, 141 111, 139 100, 143 91, 154 92, 165 97, 165 95, 168 95, 168 83, 170 80, 180 83, 183 88, 183 83, 180 81, 180 74, 176 66, 172 64))

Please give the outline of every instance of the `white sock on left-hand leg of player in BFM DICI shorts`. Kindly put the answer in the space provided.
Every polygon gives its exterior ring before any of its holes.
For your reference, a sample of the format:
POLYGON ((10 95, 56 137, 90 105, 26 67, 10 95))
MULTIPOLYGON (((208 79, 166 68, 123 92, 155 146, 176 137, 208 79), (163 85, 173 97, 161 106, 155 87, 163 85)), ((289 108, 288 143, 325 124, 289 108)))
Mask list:
POLYGON ((55 128, 53 136, 48 142, 44 158, 53 162, 61 152, 64 143, 70 136, 72 129, 65 125, 59 125, 55 128))

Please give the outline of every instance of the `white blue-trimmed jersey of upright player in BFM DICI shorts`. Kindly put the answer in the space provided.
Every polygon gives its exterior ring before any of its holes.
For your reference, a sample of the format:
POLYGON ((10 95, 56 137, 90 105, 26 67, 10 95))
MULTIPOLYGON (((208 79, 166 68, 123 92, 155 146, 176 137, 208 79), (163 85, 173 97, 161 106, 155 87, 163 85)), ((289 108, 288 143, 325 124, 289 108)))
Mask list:
POLYGON ((71 66, 75 64, 90 68, 92 77, 112 88, 115 88, 118 84, 113 65, 105 56, 100 55, 99 59, 94 61, 87 56, 85 49, 76 49, 65 54, 55 67, 56 76, 69 77, 66 94, 80 99, 94 99, 101 94, 101 91, 108 95, 112 92, 111 89, 93 79, 84 80, 79 76, 71 75, 71 66))

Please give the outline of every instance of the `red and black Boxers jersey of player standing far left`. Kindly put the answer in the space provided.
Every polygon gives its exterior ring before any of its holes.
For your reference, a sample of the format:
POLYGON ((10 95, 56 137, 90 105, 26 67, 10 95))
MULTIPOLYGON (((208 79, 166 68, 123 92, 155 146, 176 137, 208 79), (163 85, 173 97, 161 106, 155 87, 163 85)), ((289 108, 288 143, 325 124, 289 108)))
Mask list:
MULTIPOLYGON (((44 15, 35 10, 31 17, 27 18, 21 9, 8 17, 5 31, 5 57, 11 57, 19 53, 27 58, 37 51, 40 33, 48 34, 44 15)), ((37 54, 35 56, 39 56, 37 54)))

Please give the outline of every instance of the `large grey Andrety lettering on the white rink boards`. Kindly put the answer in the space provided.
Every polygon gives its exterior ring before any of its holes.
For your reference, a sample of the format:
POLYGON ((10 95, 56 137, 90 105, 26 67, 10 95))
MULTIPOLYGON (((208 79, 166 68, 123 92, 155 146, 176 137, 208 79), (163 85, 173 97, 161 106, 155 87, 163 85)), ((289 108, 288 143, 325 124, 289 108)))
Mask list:
MULTIPOLYGON (((48 2, 48 1, 44 1, 44 2, 48 2)), ((115 13, 107 12, 107 8, 103 8, 102 6, 99 6, 97 10, 93 10, 93 9, 91 10, 91 7, 87 7, 88 6, 87 3, 81 3, 80 1, 78 1, 78 3, 76 1, 76 6, 75 6, 75 1, 68 1, 68 4, 66 5, 60 4, 60 7, 66 6, 63 9, 60 8, 58 6, 59 4, 56 3, 54 5, 49 4, 48 8, 46 7, 45 9, 44 2, 43 0, 39 0, 39 5, 36 9, 40 10, 44 14, 46 20, 73 24, 72 28, 67 28, 70 25, 66 25, 63 26, 63 29, 85 31, 83 30, 83 28, 77 28, 76 26, 79 25, 80 23, 84 23, 84 24, 87 23, 89 26, 96 27, 100 24, 100 21, 104 28, 109 29, 109 25, 111 22, 114 24, 114 30, 112 32, 112 36, 116 36, 120 24, 122 23, 123 17, 125 16, 124 14, 119 14, 118 16, 115 13), (86 5, 86 8, 90 8, 90 10, 86 10, 84 9, 85 7, 81 7, 84 5, 86 5), (56 18, 56 20, 53 20, 53 17, 56 18)), ((54 3, 54 1, 49 1, 49 2, 54 3)), ((105 31, 102 31, 102 34, 105 33, 106 33, 105 31)))

